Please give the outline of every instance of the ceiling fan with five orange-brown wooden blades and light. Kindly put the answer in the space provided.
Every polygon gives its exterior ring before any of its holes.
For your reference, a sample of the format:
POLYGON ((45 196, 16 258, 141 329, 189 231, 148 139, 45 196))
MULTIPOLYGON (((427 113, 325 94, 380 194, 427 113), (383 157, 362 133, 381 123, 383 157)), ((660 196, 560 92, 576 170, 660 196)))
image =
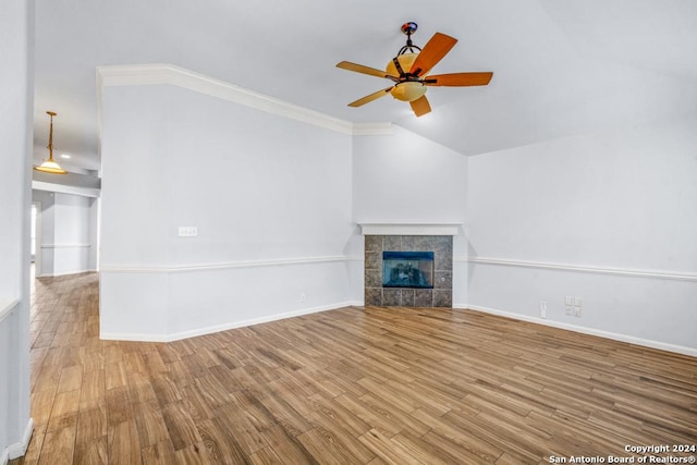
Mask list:
POLYGON ((428 76, 428 72, 452 49, 457 39, 445 34, 436 33, 424 48, 416 47, 412 42, 412 34, 417 29, 416 23, 409 22, 402 25, 402 33, 406 35, 406 45, 400 49, 387 65, 384 71, 363 64, 342 61, 337 64, 348 71, 368 74, 370 76, 386 77, 394 85, 359 98, 348 103, 348 107, 360 107, 380 97, 392 94, 398 100, 408 101, 417 117, 431 111, 426 98, 427 86, 486 86, 491 81, 493 73, 451 73, 428 76), (418 51, 417 51, 418 50, 418 51))

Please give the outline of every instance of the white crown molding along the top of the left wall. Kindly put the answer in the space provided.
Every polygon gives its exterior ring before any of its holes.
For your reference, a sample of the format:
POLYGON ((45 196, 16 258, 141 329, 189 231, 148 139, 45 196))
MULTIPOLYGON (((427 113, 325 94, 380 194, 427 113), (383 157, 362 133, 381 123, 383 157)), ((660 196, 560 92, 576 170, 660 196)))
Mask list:
POLYGON ((352 136, 392 134, 391 123, 352 123, 172 64, 97 66, 98 95, 103 87, 162 84, 174 85, 341 134, 352 136))

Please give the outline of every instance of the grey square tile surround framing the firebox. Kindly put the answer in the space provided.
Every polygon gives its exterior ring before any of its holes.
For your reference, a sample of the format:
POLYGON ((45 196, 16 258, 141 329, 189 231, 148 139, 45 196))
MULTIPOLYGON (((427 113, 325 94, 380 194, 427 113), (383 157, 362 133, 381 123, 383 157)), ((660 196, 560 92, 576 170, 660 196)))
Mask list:
POLYGON ((452 307, 452 235, 365 235, 365 305, 452 307), (433 252, 433 289, 382 287, 383 252, 433 252))

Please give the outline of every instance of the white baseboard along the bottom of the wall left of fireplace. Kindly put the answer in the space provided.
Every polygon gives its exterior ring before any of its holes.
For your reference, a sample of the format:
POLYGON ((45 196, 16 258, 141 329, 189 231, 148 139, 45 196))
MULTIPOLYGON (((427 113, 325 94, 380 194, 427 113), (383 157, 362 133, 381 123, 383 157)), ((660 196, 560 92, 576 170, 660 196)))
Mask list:
POLYGON ((286 311, 283 314, 270 315, 267 317, 252 318, 248 320, 233 321, 224 325, 216 325, 207 328, 199 328, 189 331, 176 332, 173 334, 133 334, 133 333, 100 333, 99 339, 105 341, 140 341, 140 342, 172 342, 182 339, 195 338, 198 335, 212 334, 236 328, 244 328, 253 325, 260 325, 286 318, 301 317, 303 315, 318 314, 321 311, 335 310, 339 308, 362 306, 359 302, 342 302, 339 304, 325 305, 319 307, 304 308, 301 310, 286 311))

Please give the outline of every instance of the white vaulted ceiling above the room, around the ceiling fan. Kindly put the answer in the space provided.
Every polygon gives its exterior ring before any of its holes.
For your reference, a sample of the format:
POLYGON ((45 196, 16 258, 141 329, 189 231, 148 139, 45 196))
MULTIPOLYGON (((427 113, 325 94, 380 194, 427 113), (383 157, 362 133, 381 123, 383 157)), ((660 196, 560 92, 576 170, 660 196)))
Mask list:
POLYGON ((36 0, 35 159, 98 169, 95 75, 171 63, 356 122, 392 122, 464 155, 697 112, 695 0, 36 0), (390 97, 346 103, 389 81, 415 21, 424 46, 457 38, 432 73, 493 71, 487 87, 431 87, 415 118, 390 97))

